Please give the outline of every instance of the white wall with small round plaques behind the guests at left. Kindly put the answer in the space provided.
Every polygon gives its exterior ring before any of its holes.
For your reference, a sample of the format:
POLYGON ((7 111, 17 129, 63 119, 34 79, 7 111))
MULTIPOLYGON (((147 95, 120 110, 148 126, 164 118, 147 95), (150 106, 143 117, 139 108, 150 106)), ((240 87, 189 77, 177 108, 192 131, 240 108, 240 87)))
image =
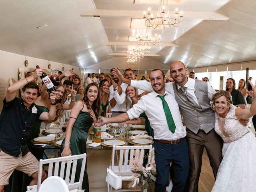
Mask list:
MULTIPOLYGON (((18 68, 23 68, 24 72, 32 71, 36 68, 36 65, 39 65, 41 68, 48 69, 48 60, 26 57, 24 55, 18 55, 10 52, 0 51, 0 109, 2 110, 4 96, 6 94, 6 89, 8 86, 8 79, 14 78, 14 80, 18 80, 18 68), (28 60, 28 66, 24 65, 25 60, 28 60)), ((73 67, 71 65, 57 63, 57 62, 49 62, 51 64, 52 69, 58 69, 62 71, 62 66, 64 66, 64 70, 70 70, 74 68, 76 74, 81 74, 81 71, 78 67, 73 67)))

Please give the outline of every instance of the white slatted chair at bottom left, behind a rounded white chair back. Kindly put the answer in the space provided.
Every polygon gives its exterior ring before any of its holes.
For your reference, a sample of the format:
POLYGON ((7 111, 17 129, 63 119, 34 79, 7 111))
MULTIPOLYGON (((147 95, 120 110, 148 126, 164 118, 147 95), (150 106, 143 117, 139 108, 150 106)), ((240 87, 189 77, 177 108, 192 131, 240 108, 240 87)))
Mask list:
POLYGON ((43 164, 49 164, 48 178, 52 175, 59 176, 60 178, 65 180, 70 192, 71 191, 72 192, 84 192, 84 190, 82 190, 81 188, 82 188, 82 182, 83 182, 83 178, 84 178, 84 169, 85 169, 85 164, 86 164, 86 153, 81 154, 81 155, 58 157, 58 158, 52 158, 52 159, 44 159, 44 160, 40 159, 37 185, 27 186, 26 192, 38 192, 38 190, 40 189, 43 164), (80 171, 79 181, 74 182, 75 174, 76 174, 76 164, 77 164, 78 159, 82 159, 82 168, 80 171), (70 173, 71 166, 72 166, 72 172, 70 173), (59 167, 60 167, 60 170, 59 170, 59 167), (54 172, 53 172, 53 168, 54 168, 54 172), (64 178, 65 170, 66 170, 66 176, 64 178), (71 174, 71 177, 70 177, 70 174, 71 174))

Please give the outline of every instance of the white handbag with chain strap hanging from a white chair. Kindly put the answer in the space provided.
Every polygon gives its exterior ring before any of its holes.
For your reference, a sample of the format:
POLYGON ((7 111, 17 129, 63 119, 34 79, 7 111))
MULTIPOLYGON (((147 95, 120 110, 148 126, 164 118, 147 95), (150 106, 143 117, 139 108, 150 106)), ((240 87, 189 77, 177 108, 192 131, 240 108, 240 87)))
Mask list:
POLYGON ((117 150, 116 150, 116 159, 118 162, 118 171, 119 174, 116 175, 112 170, 111 170, 111 162, 112 162, 112 156, 110 159, 110 166, 109 168, 107 168, 107 176, 106 176, 106 182, 108 184, 110 184, 114 189, 120 189, 122 188, 122 176, 120 173, 120 166, 119 166, 119 161, 118 161, 118 154, 117 154, 117 150))

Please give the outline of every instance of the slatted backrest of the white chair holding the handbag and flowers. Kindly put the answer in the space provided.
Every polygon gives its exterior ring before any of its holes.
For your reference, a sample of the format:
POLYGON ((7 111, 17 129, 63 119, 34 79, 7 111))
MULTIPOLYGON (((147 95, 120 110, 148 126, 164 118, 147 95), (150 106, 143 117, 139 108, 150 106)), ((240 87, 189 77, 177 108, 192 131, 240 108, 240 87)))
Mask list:
POLYGON ((113 146, 112 149, 112 164, 111 169, 114 173, 118 174, 118 164, 115 163, 116 150, 120 152, 118 160, 120 166, 120 172, 122 174, 131 173, 131 166, 133 159, 139 160, 142 165, 143 160, 148 158, 147 165, 151 162, 152 145, 138 145, 138 146, 113 146), (145 150, 148 150, 148 154, 145 154, 145 150))

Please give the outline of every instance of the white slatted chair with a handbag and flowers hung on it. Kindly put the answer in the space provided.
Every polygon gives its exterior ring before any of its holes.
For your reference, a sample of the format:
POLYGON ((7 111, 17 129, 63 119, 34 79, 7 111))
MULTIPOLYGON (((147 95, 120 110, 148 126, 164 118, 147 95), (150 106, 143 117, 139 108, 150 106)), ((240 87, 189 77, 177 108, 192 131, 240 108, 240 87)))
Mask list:
MULTIPOLYGON (((116 157, 116 151, 119 151, 119 167, 120 167, 120 173, 122 174, 122 181, 129 181, 132 179, 132 160, 134 158, 139 158, 139 162, 142 165, 144 157, 146 156, 148 158, 147 164, 150 164, 151 161, 151 154, 152 154, 152 145, 143 145, 143 146, 113 146, 112 149, 112 164, 111 164, 111 170, 118 175, 118 164, 115 162, 116 157), (148 149, 148 154, 145 154, 145 150, 148 149)), ((112 188, 110 184, 108 184, 108 192, 112 191, 140 191, 140 189, 137 188, 130 188, 130 189, 119 189, 115 190, 112 188)))

